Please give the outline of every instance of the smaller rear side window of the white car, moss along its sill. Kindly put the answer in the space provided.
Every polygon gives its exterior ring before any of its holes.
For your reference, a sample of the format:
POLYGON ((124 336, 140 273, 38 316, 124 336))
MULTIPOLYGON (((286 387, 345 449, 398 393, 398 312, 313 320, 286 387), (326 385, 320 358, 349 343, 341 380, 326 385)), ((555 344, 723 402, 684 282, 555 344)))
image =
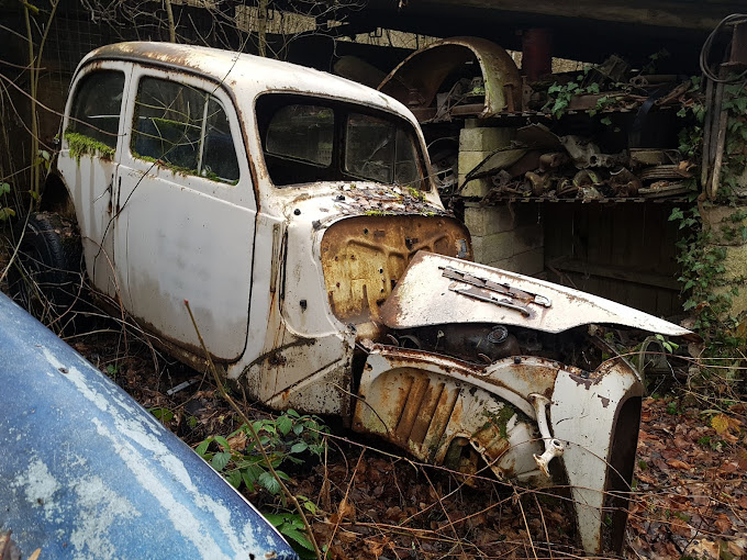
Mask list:
POLYGON ((66 133, 88 136, 110 148, 116 147, 124 74, 99 70, 78 83, 66 133))

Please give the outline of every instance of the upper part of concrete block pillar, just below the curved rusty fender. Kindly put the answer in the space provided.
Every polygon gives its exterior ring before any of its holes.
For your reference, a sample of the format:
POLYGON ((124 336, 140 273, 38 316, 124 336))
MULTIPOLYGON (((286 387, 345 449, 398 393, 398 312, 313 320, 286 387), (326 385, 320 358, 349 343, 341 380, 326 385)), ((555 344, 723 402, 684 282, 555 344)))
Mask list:
MULTIPOLYGON (((513 137, 512 128, 478 127, 476 120, 468 120, 459 131, 459 187, 465 183, 465 177, 487 158, 493 150, 509 146, 513 137)), ((488 194, 492 183, 490 179, 473 179, 469 181, 460 194, 462 197, 482 198, 488 194)))

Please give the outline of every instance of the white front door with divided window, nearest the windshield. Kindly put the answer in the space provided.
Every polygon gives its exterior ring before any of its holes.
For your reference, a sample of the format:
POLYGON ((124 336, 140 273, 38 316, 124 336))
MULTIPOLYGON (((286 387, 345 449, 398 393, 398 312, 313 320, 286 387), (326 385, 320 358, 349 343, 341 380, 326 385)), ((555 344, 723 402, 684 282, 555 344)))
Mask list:
POLYGON ((155 334, 235 360, 248 326, 256 202, 230 96, 193 76, 133 70, 116 197, 124 305, 155 334))

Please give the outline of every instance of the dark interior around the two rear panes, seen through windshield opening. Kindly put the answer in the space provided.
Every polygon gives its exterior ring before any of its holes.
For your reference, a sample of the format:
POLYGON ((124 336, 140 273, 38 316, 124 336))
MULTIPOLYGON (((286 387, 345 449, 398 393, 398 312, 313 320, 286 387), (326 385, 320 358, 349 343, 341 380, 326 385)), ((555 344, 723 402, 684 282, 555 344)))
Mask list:
MULTIPOLYGON (((311 182, 372 182, 376 184, 383 184, 387 187, 401 187, 416 189, 421 192, 432 192, 433 186, 428 176, 428 163, 424 155, 424 147, 420 131, 416 125, 409 121, 405 116, 388 111, 384 108, 376 108, 367 104, 355 103, 348 100, 327 98, 316 94, 297 93, 288 91, 266 91, 257 96, 254 102, 254 114, 256 124, 256 134, 259 141, 260 155, 263 164, 267 171, 267 177, 272 187, 277 189, 298 188, 311 182), (314 178, 304 178, 300 182, 291 180, 279 180, 278 177, 272 177, 271 160, 279 160, 275 163, 277 167, 281 166, 283 161, 291 165, 303 165, 304 161, 292 157, 285 157, 278 154, 268 153, 267 133, 270 122, 272 121, 277 111, 288 105, 312 105, 315 108, 328 108, 334 115, 334 134, 332 147, 332 161, 330 166, 320 167, 313 166, 319 173, 314 178), (401 128, 408 137, 410 137, 413 145, 414 157, 416 158, 416 167, 419 169, 420 180, 408 184, 397 184, 393 182, 381 182, 374 178, 361 178, 345 169, 345 157, 347 150, 347 126, 348 117, 350 115, 366 115, 381 119, 394 125, 394 130, 401 128), (268 158, 269 156, 269 158, 268 158), (269 161, 268 161, 269 159, 269 161), (324 177, 326 176, 326 177, 324 177)), ((309 164, 309 163, 305 163, 309 164)), ((277 172, 276 172, 277 176, 277 172)))

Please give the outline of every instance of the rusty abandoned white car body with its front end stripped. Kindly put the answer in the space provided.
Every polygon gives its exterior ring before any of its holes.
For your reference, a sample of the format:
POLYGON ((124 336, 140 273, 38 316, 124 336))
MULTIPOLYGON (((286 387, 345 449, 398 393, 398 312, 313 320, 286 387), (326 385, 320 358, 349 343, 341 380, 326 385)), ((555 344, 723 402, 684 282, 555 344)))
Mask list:
POLYGON ((643 385, 593 324, 691 333, 469 262, 404 105, 275 60, 124 43, 82 60, 63 126, 48 200, 69 193, 96 291, 172 355, 203 366, 188 300, 252 397, 466 472, 568 482, 583 547, 620 547, 625 513, 605 541, 603 511, 629 490, 643 385))

